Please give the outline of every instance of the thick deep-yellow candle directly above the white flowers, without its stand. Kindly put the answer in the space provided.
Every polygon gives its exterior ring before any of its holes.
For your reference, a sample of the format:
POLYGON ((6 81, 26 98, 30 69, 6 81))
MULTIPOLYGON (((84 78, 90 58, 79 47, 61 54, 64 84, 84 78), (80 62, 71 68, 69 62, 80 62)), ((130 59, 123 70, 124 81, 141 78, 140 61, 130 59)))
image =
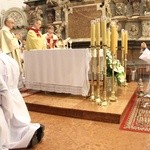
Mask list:
POLYGON ((111 25, 111 51, 112 51, 112 54, 116 53, 116 41, 117 41, 116 25, 112 24, 111 25))

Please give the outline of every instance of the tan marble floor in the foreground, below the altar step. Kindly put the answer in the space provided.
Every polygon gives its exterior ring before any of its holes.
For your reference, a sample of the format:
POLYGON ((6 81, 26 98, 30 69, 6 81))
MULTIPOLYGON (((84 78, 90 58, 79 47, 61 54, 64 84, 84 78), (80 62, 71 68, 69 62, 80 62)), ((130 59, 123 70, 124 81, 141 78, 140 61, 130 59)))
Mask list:
POLYGON ((150 150, 150 134, 124 131, 119 124, 30 112, 45 125, 45 136, 32 150, 150 150))

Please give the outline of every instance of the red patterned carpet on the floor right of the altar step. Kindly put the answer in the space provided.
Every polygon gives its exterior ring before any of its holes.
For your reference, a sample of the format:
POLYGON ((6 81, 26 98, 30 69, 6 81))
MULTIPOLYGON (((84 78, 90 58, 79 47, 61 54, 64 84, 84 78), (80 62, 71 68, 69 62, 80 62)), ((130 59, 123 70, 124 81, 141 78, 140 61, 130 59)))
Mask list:
POLYGON ((150 98, 139 98, 136 92, 133 94, 120 129, 150 133, 150 98))

